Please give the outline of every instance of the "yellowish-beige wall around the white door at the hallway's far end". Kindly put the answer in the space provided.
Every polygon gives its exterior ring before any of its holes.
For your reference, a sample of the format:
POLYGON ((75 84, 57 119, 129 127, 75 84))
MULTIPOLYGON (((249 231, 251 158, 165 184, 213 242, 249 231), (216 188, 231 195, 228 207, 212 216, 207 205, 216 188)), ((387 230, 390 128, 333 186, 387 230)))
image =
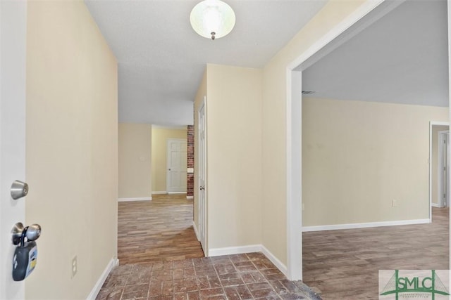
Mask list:
MULTIPOLYGON (((168 138, 185 138, 187 129, 152 126, 152 192, 166 192, 168 138)), ((186 166, 185 166, 186 167, 186 166)))

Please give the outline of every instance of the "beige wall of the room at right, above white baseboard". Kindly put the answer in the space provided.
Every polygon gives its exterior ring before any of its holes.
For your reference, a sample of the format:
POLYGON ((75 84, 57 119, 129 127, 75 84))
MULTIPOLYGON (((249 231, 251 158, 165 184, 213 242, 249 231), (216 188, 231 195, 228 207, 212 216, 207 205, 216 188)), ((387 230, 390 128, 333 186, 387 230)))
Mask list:
POLYGON ((447 113, 303 98, 303 225, 428 219, 429 122, 447 113))

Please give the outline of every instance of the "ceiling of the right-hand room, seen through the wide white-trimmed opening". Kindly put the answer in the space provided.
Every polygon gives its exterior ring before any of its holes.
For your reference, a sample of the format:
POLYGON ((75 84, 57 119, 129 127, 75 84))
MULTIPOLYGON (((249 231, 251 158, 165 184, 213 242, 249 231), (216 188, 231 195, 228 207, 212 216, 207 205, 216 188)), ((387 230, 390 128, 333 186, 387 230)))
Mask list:
POLYGON ((448 106, 447 4, 405 1, 302 73, 311 97, 448 106))

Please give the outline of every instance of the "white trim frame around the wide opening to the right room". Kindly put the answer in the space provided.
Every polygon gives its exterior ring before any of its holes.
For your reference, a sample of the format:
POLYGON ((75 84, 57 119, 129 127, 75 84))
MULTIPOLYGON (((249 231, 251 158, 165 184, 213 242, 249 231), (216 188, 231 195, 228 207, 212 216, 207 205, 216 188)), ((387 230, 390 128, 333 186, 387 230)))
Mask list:
MULTIPOLYGON (((393 11, 404 1, 366 1, 286 67, 287 272, 285 275, 289 280, 302 280, 302 93, 300 93, 302 71, 382 18, 383 15, 393 11), (365 16, 366 18, 362 20, 365 16), (352 27, 353 25, 357 26, 352 27)), ((447 1, 449 12, 451 0, 447 1)), ((448 20, 450 20, 449 13, 448 20)))

